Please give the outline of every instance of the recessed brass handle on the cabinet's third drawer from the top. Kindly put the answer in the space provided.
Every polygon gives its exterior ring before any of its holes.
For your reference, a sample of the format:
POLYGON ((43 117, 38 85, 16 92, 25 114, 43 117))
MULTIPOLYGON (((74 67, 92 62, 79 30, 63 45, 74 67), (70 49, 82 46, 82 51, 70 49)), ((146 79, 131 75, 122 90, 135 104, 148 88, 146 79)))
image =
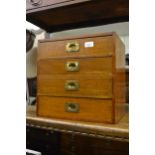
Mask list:
POLYGON ((79 83, 75 80, 68 80, 65 82, 65 90, 78 90, 79 83))

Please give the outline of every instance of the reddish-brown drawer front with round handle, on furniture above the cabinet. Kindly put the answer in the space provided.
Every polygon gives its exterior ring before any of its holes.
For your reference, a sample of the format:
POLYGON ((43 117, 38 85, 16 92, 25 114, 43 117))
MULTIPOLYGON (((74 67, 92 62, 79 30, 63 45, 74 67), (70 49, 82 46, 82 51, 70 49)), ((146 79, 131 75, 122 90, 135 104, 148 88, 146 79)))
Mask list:
POLYGON ((26 10, 37 9, 48 5, 54 5, 70 0, 26 0, 26 10))

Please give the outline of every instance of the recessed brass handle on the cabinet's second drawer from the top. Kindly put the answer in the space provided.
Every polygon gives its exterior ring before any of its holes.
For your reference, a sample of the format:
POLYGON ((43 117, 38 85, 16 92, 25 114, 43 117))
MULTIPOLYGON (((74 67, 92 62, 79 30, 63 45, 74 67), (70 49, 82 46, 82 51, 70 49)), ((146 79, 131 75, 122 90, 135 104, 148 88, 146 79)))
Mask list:
POLYGON ((80 64, 78 61, 69 61, 69 62, 66 62, 65 69, 66 71, 69 71, 69 72, 79 71, 80 64))

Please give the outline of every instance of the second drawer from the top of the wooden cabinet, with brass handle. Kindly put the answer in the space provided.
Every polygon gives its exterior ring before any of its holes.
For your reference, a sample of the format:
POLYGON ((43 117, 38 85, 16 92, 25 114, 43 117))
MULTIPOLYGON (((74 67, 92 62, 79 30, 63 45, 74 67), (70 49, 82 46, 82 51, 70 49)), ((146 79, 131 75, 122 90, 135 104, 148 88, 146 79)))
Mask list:
POLYGON ((112 57, 86 59, 44 59, 38 62, 38 75, 112 73, 112 57))

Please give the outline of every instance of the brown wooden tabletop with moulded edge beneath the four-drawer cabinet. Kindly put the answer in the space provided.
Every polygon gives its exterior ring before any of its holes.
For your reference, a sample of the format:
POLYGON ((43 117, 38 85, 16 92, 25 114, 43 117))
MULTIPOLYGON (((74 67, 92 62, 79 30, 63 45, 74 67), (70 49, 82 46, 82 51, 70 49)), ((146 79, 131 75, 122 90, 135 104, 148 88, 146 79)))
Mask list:
POLYGON ((95 136, 102 139, 125 142, 129 141, 129 105, 124 104, 124 106, 126 107, 126 113, 116 124, 39 117, 37 116, 38 109, 35 106, 27 106, 26 124, 28 126, 48 128, 52 131, 60 131, 62 133, 72 132, 75 135, 95 136))

